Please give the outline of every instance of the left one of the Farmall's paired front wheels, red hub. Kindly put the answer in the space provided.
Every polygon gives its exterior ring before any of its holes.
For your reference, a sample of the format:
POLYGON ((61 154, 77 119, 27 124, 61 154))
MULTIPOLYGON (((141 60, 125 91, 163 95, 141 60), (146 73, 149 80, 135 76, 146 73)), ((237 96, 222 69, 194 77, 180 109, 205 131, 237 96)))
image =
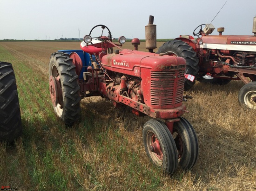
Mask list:
POLYGON ((178 166, 178 154, 175 142, 168 128, 160 121, 149 120, 143 126, 143 143, 148 157, 163 172, 173 173, 178 166), (155 151, 151 146, 155 144, 155 151))

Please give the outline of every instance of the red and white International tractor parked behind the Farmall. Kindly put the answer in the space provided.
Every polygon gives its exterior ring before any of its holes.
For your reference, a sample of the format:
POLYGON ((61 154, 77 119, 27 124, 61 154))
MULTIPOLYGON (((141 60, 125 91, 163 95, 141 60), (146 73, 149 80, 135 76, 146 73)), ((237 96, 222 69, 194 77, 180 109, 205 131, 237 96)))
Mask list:
MULTIPOLYGON (((256 17, 254 36, 222 35, 223 27, 217 29, 219 35, 210 35, 214 29, 212 24, 199 25, 193 32, 197 39, 180 35, 163 44, 157 53, 184 57, 186 73, 204 82, 222 85, 242 80, 245 85, 238 93, 238 101, 245 108, 256 109, 256 17)), ((194 83, 186 80, 185 89, 194 83)))

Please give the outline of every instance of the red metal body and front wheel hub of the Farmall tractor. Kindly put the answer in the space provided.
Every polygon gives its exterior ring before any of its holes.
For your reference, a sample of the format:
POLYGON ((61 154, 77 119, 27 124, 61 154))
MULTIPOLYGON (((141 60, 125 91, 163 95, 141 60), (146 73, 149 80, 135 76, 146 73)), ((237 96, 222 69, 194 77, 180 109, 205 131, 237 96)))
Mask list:
MULTIPOLYGON (((153 52, 122 50, 107 38, 102 41, 101 45, 81 43, 83 51, 100 53, 97 58, 105 71, 98 74, 99 69, 88 67, 88 72, 84 73, 86 80, 80 80, 81 97, 106 97, 115 107, 131 107, 135 115, 168 120, 166 123, 172 132, 173 121, 188 112, 182 104, 186 60, 153 52), (119 52, 107 54, 106 50, 114 46, 119 52)), ((133 41, 138 42, 139 39, 133 41)), ((161 146, 155 136, 151 146, 161 158, 161 146)))

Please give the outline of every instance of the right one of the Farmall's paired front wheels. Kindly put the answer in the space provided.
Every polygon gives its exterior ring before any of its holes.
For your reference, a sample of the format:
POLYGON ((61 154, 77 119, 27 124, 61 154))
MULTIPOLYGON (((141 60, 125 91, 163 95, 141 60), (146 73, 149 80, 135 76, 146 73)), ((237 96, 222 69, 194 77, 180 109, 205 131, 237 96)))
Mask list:
POLYGON ((173 137, 178 151, 179 166, 184 170, 195 165, 198 157, 198 140, 195 130, 185 118, 174 122, 173 137))

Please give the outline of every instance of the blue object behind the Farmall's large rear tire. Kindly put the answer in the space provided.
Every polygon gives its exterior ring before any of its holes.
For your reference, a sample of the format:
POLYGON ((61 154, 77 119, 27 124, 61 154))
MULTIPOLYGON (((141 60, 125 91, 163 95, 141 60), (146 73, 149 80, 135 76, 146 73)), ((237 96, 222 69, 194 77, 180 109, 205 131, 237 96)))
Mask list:
MULTIPOLYGON (((72 52, 75 52, 79 55, 83 63, 83 66, 79 75, 79 79, 83 79, 83 72, 87 72, 88 66, 92 66, 90 55, 87 52, 82 50, 59 50, 58 52, 65 52, 67 54, 71 54, 72 52)), ((92 55, 92 58, 95 59, 94 55, 92 55)))

